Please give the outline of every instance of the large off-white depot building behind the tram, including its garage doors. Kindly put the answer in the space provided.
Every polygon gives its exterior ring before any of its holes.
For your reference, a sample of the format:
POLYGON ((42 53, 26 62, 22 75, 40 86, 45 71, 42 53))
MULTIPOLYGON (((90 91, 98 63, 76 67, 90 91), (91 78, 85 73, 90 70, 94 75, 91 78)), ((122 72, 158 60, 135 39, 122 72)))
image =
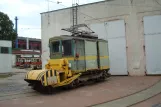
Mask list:
MULTIPOLYGON (((41 14, 42 61, 49 59, 50 37, 67 34, 71 8, 41 14)), ((113 75, 161 74, 161 0, 110 0, 81 5, 78 23, 109 41, 113 75)))

